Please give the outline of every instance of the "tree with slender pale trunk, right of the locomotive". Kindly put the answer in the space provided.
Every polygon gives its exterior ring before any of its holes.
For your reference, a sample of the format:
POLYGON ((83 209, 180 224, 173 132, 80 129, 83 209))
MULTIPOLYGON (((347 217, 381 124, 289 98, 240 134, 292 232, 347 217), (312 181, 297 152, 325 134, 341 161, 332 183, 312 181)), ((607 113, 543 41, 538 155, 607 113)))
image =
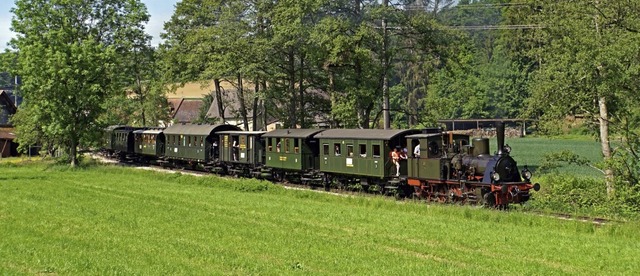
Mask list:
MULTIPOLYGON (((615 177, 621 175, 612 166, 615 156, 609 136, 620 131, 633 133, 637 126, 633 107, 637 107, 640 89, 640 50, 636 47, 640 44, 640 2, 545 1, 541 5, 548 40, 536 73, 532 113, 541 114, 546 121, 582 114, 598 126, 611 196, 615 177), (536 104, 541 102, 546 104, 536 104)), ((637 140, 633 135, 627 137, 637 140)), ((634 147, 627 150, 633 156, 634 147)))

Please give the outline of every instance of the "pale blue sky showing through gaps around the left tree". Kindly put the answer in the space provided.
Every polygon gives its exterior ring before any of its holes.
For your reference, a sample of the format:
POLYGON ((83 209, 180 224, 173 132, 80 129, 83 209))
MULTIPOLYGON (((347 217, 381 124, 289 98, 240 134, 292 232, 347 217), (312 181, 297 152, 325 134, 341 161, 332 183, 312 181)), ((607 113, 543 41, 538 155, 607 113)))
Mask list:
MULTIPOLYGON (((179 0, 141 0, 147 5, 147 10, 151 15, 147 24, 147 33, 153 36, 152 45, 160 42, 160 32, 165 21, 171 18, 175 4, 179 0)), ((11 32, 11 8, 13 0, 0 0, 0 51, 7 48, 7 42, 14 36, 11 32)))

